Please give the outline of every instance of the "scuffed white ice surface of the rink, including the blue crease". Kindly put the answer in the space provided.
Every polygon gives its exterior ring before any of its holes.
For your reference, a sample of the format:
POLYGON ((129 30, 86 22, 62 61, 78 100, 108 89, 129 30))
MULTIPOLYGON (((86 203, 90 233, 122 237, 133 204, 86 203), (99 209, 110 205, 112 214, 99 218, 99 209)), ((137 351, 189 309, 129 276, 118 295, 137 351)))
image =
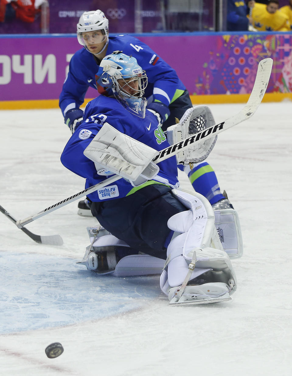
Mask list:
MULTIPOLYGON (((210 108, 219 123, 242 105, 210 108)), ((77 202, 27 225, 60 234, 61 247, 35 243, 0 213, 0 374, 290 376, 291 127, 291 102, 262 103, 208 158, 242 226, 229 302, 173 307, 159 276, 97 276, 76 264, 95 224, 77 202), (64 353, 49 359, 53 342, 64 353)), ((58 109, 1 111, 0 130, 0 205, 15 218, 83 190, 60 162, 70 133, 58 109)))

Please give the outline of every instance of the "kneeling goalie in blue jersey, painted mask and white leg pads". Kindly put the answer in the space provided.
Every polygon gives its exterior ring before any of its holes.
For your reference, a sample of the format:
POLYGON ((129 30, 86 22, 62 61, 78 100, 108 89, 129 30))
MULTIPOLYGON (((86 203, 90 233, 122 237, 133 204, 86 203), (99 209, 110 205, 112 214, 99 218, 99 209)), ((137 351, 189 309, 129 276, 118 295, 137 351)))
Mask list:
MULTIPOLYGON (((86 188, 113 174, 122 179, 89 194, 92 213, 103 228, 88 229, 91 245, 81 263, 96 273, 116 276, 163 269, 160 285, 170 304, 230 300, 236 278, 212 206, 199 193, 176 189, 177 162, 206 158, 216 138, 155 164, 155 156, 170 144, 157 117, 147 110, 145 71, 135 58, 119 51, 105 56, 100 67, 97 83, 108 82, 114 96, 101 95, 87 104, 61 162, 86 178, 86 188)), ((215 124, 207 106, 191 108, 179 124, 168 128, 171 143, 181 133, 190 136, 199 113, 207 127, 215 124)), ((229 210, 228 227, 235 218, 235 211, 229 210)), ((241 253, 238 247, 234 256, 241 253)))

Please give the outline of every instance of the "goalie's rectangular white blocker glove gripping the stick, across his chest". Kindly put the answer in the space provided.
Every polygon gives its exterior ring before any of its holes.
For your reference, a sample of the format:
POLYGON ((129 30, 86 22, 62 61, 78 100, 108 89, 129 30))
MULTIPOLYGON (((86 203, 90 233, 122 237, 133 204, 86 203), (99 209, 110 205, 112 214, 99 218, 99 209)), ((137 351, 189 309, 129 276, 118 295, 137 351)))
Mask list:
POLYGON ((133 186, 153 179, 159 171, 152 162, 157 150, 119 132, 109 123, 104 123, 83 154, 95 163, 97 171, 106 168, 133 186))

